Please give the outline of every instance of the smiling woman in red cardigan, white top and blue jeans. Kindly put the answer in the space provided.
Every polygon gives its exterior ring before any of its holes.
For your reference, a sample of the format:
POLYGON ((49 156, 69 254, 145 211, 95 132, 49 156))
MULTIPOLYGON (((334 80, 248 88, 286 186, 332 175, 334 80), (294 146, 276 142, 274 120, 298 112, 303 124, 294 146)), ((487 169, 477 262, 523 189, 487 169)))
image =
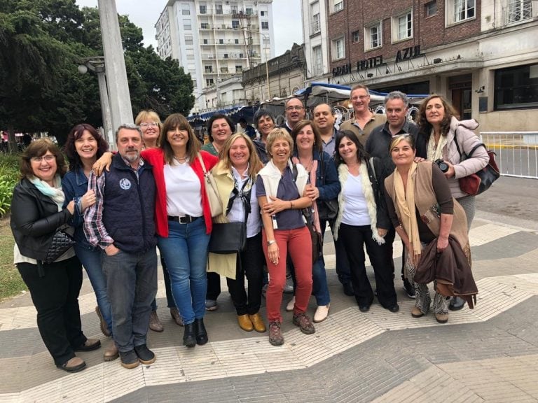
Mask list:
POLYGON ((185 324, 183 344, 206 344, 204 326, 207 280, 207 245, 212 229, 209 201, 205 195, 205 170, 219 161, 200 151, 188 121, 170 115, 160 132, 160 146, 144 150, 142 157, 153 165, 156 195, 158 246, 165 258, 172 295, 185 324))

